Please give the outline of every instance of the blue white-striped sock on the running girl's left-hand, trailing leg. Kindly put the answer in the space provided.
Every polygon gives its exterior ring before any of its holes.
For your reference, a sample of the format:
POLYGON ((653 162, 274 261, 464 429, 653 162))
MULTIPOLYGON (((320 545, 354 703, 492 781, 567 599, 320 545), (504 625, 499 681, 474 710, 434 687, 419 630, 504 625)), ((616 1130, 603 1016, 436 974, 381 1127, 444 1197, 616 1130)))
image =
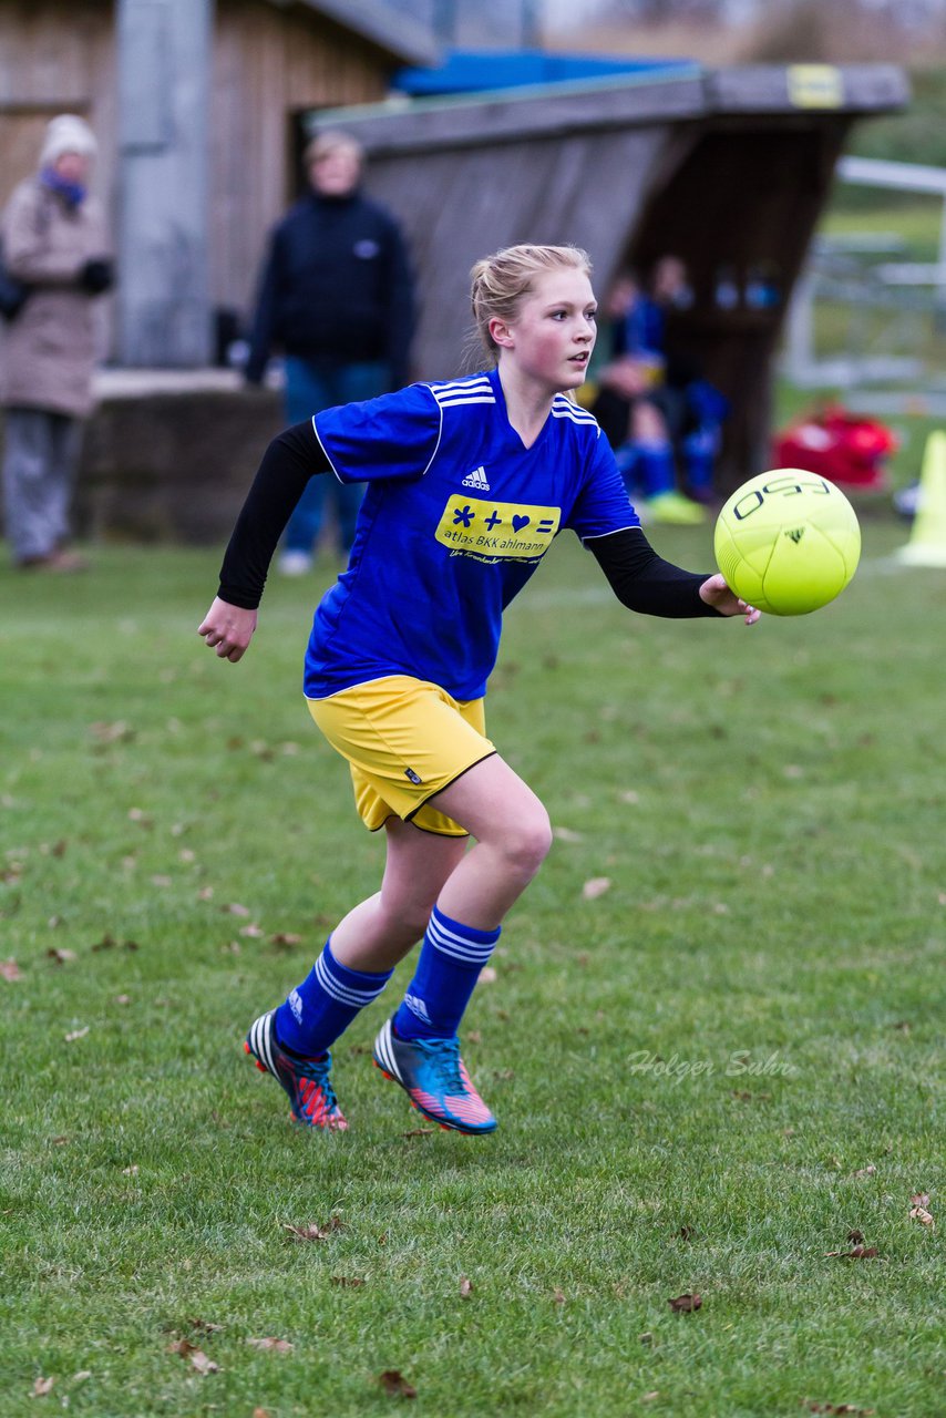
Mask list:
POLYGON ((339 964, 329 936, 309 976, 277 1010, 277 1039, 305 1058, 325 1054, 359 1010, 379 997, 393 974, 393 970, 367 974, 339 964))

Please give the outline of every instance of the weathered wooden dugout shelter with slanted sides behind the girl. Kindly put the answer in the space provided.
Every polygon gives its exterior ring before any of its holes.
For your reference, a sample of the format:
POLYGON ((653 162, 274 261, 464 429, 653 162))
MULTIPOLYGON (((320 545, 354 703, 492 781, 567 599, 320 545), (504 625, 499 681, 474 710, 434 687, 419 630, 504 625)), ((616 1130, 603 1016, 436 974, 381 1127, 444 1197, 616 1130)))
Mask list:
POLYGON ((892 65, 675 65, 316 118, 357 133, 410 237, 420 377, 461 369, 467 274, 488 251, 574 242, 599 294, 625 265, 682 257, 694 301, 671 339, 732 403, 726 485, 766 467, 772 357, 844 138, 906 99, 892 65))

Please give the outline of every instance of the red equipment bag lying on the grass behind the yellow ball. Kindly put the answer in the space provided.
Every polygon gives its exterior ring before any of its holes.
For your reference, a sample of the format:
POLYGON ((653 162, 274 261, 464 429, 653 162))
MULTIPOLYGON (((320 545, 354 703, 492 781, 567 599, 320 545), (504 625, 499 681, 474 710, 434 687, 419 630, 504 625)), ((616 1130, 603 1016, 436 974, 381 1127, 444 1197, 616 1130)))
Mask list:
POLYGON ((896 448, 891 428, 841 406, 804 414, 773 440, 774 467, 804 468, 841 488, 882 492, 884 459, 896 448))

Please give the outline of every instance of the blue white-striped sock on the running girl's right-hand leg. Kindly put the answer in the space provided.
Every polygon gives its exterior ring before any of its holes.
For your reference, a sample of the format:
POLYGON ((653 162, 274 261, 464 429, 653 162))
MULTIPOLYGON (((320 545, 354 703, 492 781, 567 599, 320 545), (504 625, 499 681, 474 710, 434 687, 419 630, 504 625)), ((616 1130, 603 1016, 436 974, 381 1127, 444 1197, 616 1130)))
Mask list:
POLYGON ((498 940, 499 926, 495 930, 474 930, 434 906, 414 978, 394 1015, 399 1037, 451 1038, 498 940))

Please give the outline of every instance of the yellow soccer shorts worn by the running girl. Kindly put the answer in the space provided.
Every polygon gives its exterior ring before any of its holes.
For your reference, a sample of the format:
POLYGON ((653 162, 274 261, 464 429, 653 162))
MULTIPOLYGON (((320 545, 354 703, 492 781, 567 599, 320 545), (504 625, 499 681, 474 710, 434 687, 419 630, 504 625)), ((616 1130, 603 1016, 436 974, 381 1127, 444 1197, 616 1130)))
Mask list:
POLYGON ((425 679, 386 675, 306 703, 347 759, 355 804, 372 832, 394 815, 425 832, 467 835, 430 798, 496 752, 482 699, 458 700, 425 679))

